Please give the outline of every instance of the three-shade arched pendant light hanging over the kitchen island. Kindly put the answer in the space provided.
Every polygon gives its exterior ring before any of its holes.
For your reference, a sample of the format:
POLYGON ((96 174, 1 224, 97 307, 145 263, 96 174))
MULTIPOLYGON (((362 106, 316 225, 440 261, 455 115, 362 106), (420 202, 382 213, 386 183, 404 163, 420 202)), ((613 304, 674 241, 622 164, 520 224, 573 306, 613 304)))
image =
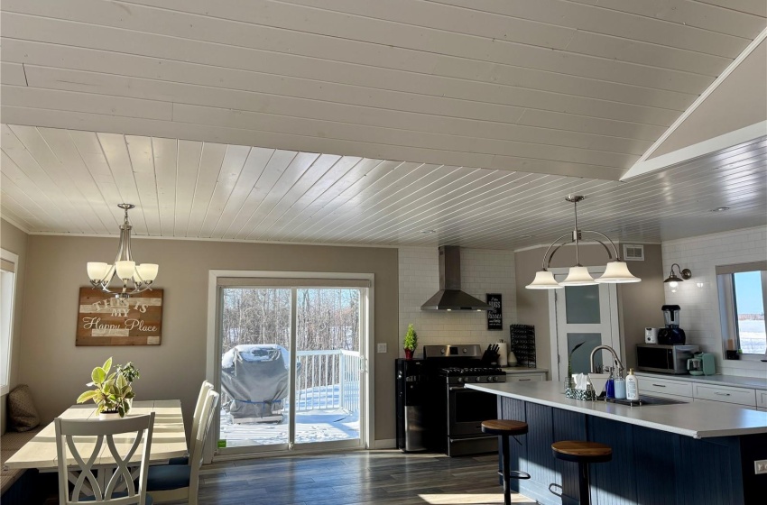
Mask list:
POLYGON ((618 249, 615 247, 615 243, 613 243, 613 241, 610 240, 610 237, 600 232, 596 232, 594 230, 578 229, 578 202, 582 201, 584 198, 585 197, 582 197, 580 195, 568 195, 565 198, 568 202, 571 202, 573 204, 573 211, 575 213, 575 227, 573 228, 572 232, 563 234, 557 240, 555 240, 554 243, 552 243, 549 246, 549 249, 547 249, 546 253, 543 254, 543 266, 541 268, 541 271, 537 271, 535 273, 535 279, 533 279, 530 284, 525 286, 525 288, 527 289, 557 289, 557 288, 564 288, 565 286, 592 286, 597 283, 617 284, 622 282, 639 282, 641 280, 638 277, 634 277, 632 273, 629 271, 626 263, 621 261, 621 257, 618 254, 618 249), (607 242, 610 243, 610 245, 612 246, 612 251, 610 251, 610 248, 607 247, 607 245, 605 245, 605 243, 602 242, 602 240, 599 240, 599 238, 584 240, 583 234, 596 234, 599 237, 602 237, 603 239, 605 239, 607 242), (569 240, 563 241, 562 239, 565 239, 565 238, 568 238, 569 240), (559 241, 562 241, 562 242, 559 243, 559 241), (601 277, 594 279, 593 277, 591 277, 591 274, 588 273, 587 267, 580 264, 578 244, 581 242, 601 243, 602 247, 605 248, 605 251, 607 252, 608 262, 605 268, 605 273, 603 273, 601 277), (563 245, 567 245, 568 243, 575 243, 576 264, 570 267, 570 270, 568 271, 568 277, 565 278, 565 280, 558 282, 556 279, 554 279, 554 274, 551 273, 548 269, 550 268, 551 258, 554 257, 554 254, 556 254, 557 251, 559 251, 559 248, 561 248, 563 245), (615 253, 615 259, 614 259, 614 253, 615 253))

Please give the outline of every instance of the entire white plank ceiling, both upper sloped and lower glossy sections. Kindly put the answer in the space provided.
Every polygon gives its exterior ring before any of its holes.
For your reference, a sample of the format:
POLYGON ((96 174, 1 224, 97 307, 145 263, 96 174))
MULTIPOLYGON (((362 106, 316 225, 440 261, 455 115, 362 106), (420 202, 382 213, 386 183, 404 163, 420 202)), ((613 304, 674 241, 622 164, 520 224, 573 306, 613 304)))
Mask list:
POLYGON ((581 193, 583 224, 624 240, 762 225, 765 139, 617 179, 766 18, 763 0, 4 0, 2 213, 115 234, 125 201, 139 235, 513 248, 566 231, 581 193))

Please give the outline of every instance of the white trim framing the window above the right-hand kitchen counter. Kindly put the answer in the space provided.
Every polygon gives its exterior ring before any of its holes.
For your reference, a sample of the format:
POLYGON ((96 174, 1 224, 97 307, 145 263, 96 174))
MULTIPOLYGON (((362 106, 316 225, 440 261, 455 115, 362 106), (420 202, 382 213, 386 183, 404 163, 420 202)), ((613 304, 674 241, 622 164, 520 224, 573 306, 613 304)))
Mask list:
MULTIPOLYGON (((735 265, 716 266, 716 290, 719 298, 719 319, 722 330, 722 350, 723 357, 727 350, 727 340, 734 335, 735 349, 740 349, 740 335, 738 332, 737 320, 735 318, 735 284, 733 282, 735 273, 744 273, 747 271, 761 271, 762 275, 762 304, 765 307, 762 310, 767 314, 767 262, 748 262, 735 265)), ((763 354, 740 354, 741 361, 761 362, 767 352, 763 354)), ((731 360, 732 361, 732 360, 731 360)), ((735 360, 736 361, 736 360, 735 360)))

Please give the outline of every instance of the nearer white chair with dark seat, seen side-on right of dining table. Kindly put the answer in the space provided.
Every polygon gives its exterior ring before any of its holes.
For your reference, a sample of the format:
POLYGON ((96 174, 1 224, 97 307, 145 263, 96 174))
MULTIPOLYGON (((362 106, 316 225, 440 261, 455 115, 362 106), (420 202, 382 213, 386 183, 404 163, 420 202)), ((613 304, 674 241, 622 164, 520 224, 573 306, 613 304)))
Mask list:
POLYGON ((152 493, 155 503, 169 501, 187 501, 189 505, 198 505, 199 467, 202 466, 202 450, 208 437, 211 421, 216 412, 218 393, 208 391, 208 396, 199 417, 197 433, 194 434, 189 455, 189 464, 165 464, 149 468, 146 489, 152 493))

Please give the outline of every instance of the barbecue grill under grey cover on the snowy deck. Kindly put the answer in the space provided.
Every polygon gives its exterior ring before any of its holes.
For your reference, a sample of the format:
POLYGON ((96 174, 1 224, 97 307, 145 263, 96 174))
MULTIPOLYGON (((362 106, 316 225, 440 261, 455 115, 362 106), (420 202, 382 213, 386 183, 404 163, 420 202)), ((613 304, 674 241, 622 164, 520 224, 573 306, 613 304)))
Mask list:
POLYGON ((242 344, 224 353, 221 390, 232 422, 282 421, 290 392, 289 366, 290 353, 282 345, 242 344))

